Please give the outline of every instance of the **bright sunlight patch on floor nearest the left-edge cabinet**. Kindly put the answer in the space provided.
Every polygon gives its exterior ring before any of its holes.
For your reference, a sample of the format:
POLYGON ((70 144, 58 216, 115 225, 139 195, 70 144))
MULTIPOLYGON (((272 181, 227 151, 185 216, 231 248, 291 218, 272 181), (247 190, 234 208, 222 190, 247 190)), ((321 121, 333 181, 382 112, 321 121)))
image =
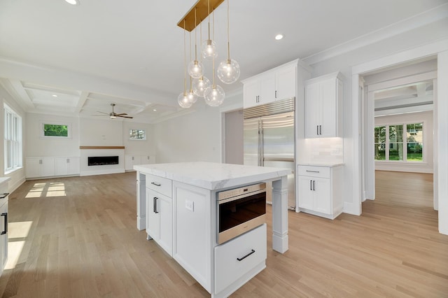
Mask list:
POLYGON ((32 221, 8 222, 8 261, 5 269, 14 269, 22 255, 32 221))

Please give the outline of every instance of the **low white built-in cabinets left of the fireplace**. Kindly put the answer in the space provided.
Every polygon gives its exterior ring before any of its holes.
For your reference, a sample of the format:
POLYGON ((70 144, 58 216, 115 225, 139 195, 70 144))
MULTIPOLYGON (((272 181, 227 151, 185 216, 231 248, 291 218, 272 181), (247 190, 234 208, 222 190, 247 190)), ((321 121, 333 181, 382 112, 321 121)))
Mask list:
POLYGON ((27 157, 26 178, 75 176, 80 173, 80 157, 27 157))

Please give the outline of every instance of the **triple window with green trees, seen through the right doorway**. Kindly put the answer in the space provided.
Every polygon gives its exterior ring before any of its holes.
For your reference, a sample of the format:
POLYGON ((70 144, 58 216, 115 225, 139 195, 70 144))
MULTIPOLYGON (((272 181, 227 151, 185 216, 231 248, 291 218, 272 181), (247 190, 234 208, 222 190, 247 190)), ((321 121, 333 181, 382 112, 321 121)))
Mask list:
POLYGON ((379 125, 374 147, 378 161, 423 162, 423 123, 379 125))

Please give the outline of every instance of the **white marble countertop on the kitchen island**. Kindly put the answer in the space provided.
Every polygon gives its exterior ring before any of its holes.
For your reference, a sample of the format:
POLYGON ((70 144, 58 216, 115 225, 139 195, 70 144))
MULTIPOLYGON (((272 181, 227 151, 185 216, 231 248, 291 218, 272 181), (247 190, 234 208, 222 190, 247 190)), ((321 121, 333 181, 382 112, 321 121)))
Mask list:
POLYGON ((220 190, 262 180, 276 180, 291 173, 290 169, 213 162, 140 164, 134 166, 134 170, 207 190, 220 190))

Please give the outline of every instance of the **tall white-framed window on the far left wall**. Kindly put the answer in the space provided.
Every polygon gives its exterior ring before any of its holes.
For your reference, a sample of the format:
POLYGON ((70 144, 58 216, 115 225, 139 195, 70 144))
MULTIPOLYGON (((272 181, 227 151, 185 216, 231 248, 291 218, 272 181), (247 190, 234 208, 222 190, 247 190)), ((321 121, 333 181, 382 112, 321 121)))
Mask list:
POLYGON ((6 104, 3 108, 5 173, 8 173, 22 166, 22 118, 6 104))

